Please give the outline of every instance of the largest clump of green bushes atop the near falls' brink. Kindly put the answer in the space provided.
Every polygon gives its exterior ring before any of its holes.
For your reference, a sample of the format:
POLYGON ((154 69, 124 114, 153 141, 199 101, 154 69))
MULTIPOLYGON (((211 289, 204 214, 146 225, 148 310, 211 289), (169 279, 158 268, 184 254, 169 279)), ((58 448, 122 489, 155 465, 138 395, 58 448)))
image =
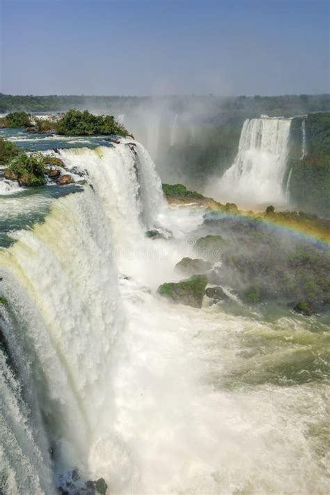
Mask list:
POLYGON ((57 134, 65 136, 93 136, 119 134, 127 136, 128 132, 116 122, 113 116, 95 116, 88 110, 69 110, 55 124, 57 134))

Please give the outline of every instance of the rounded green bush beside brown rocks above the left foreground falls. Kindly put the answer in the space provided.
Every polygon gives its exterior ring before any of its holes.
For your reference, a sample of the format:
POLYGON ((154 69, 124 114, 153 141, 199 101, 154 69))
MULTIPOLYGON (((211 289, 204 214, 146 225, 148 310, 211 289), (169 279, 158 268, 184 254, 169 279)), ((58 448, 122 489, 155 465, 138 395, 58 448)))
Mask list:
POLYGON ((5 170, 6 179, 17 180, 22 186, 42 186, 45 180, 45 157, 39 153, 20 153, 5 170))

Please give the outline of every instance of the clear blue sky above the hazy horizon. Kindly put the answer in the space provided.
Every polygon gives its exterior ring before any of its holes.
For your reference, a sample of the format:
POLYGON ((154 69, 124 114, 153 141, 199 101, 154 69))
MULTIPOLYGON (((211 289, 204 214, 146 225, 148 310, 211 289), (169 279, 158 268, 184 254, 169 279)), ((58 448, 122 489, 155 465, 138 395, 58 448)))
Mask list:
POLYGON ((2 93, 329 93, 327 0, 0 3, 2 93))

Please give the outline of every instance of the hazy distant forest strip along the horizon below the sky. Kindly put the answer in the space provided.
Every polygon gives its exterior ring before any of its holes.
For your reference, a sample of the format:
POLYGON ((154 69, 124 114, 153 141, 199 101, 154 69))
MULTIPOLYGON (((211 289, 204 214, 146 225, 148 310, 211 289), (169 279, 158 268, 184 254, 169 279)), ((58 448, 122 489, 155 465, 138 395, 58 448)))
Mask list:
POLYGON ((214 115, 217 112, 230 112, 237 116, 254 117, 260 113, 269 116, 294 116, 313 111, 330 111, 330 95, 283 95, 283 96, 85 96, 85 95, 4 95, 0 93, 0 112, 10 111, 65 111, 68 109, 93 109, 93 111, 120 111, 132 107, 166 102, 168 108, 176 113, 189 109, 191 105, 202 105, 214 115))

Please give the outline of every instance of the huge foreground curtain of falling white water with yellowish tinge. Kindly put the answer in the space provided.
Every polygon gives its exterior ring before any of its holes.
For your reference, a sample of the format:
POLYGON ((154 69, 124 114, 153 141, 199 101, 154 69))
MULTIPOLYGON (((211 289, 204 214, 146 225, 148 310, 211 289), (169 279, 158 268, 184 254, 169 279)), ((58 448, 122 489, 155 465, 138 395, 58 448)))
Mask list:
POLYGON ((111 352, 122 324, 109 222, 88 188, 58 199, 44 224, 15 237, 0 252, 2 288, 17 333, 24 329, 36 353, 56 469, 79 466, 86 478, 89 448, 110 411, 111 352))

